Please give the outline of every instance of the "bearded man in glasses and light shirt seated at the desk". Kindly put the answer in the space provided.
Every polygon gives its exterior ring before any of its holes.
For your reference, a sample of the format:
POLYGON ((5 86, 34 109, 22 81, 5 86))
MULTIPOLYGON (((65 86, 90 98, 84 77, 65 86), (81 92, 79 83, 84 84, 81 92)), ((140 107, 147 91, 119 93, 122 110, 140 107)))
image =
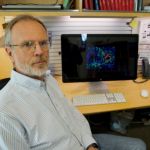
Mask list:
POLYGON ((7 26, 5 45, 14 69, 0 91, 0 149, 146 150, 140 139, 92 136, 86 119, 46 72, 48 44, 44 24, 32 16, 18 16, 7 26))

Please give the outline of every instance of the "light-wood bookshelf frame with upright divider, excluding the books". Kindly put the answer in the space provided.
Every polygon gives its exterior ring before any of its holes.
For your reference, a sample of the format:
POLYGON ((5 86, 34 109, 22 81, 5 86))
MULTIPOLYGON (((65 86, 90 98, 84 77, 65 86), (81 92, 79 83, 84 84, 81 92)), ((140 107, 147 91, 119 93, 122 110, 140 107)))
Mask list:
MULTIPOLYGON (((0 0, 0 4, 7 2, 7 0, 0 0)), ((17 2, 19 0, 8 0, 11 3, 17 2)), ((29 0, 24 0, 28 2, 29 0)), ((31 2, 32 0, 30 0, 31 2)), ((55 0, 45 0, 55 1, 55 0)), ((61 1, 61 0, 60 0, 61 1)), ((62 0, 63 1, 63 0, 62 0)), ((21 14, 31 14, 34 16, 72 16, 72 17, 150 17, 150 12, 130 12, 130 11, 97 11, 97 10, 86 10, 82 8, 83 0, 73 0, 75 3, 74 9, 69 10, 0 10, 0 16, 16 16, 21 14)), ((38 2, 43 3, 42 0, 38 2)), ((44 3, 45 3, 44 2, 44 3)), ((147 0, 143 0, 144 3, 147 3, 147 0), (145 1, 145 2, 144 2, 145 1)))

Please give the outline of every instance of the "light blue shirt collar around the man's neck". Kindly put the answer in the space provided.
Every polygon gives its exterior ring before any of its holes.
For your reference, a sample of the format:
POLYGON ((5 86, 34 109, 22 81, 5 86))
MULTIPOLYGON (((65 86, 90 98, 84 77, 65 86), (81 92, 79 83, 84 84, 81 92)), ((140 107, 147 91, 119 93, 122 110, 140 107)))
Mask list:
MULTIPOLYGON (((46 76, 48 73, 50 73, 50 72, 46 72, 46 76)), ((43 82, 41 80, 33 79, 31 77, 28 77, 26 75, 18 73, 15 70, 12 70, 12 72, 11 72, 11 81, 13 81, 17 84, 20 84, 22 86, 28 87, 28 88, 40 88, 40 87, 45 88, 45 86, 46 86, 45 82, 43 82)))

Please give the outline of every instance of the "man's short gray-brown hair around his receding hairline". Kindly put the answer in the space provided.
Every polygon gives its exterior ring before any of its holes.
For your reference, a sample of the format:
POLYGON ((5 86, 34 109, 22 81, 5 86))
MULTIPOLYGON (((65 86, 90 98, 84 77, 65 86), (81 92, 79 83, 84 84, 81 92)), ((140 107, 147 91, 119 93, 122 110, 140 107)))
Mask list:
POLYGON ((19 15, 19 16, 15 17, 14 19, 12 19, 8 23, 8 25, 6 26, 6 29, 5 29, 5 46, 9 46, 11 44, 11 30, 12 30, 13 26, 16 23, 18 23, 19 21, 29 21, 29 20, 38 22, 39 24, 41 24, 43 26, 43 28, 47 32, 46 26, 39 19, 37 19, 31 15, 19 15))

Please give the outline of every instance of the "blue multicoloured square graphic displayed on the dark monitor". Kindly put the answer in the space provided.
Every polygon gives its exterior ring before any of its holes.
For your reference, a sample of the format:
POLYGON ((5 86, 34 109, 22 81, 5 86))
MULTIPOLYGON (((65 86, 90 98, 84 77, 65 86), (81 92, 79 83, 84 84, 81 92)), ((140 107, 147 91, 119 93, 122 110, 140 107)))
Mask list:
POLYGON ((115 52, 114 46, 88 47, 86 52, 87 69, 114 69, 115 52))

